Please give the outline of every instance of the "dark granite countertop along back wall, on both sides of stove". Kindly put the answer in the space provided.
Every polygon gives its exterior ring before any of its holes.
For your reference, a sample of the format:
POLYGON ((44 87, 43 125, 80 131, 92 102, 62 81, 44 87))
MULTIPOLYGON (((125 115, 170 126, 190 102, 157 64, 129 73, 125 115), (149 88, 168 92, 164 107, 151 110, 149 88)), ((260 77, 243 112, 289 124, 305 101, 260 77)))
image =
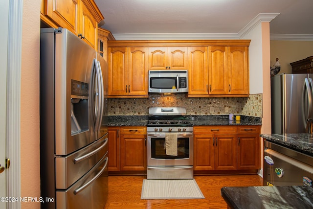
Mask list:
MULTIPOLYGON (((227 116, 187 116, 196 125, 262 125, 260 117, 241 116, 240 121, 229 120, 227 116)), ((109 116, 109 126, 146 126, 148 116, 109 116)))

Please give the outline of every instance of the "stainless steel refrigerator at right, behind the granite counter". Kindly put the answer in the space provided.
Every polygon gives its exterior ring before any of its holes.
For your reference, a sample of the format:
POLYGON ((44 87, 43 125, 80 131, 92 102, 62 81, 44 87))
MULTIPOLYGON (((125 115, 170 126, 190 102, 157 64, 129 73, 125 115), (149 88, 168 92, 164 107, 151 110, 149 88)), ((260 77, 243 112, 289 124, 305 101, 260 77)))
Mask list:
POLYGON ((313 74, 271 77, 272 133, 309 133, 313 121, 313 74))

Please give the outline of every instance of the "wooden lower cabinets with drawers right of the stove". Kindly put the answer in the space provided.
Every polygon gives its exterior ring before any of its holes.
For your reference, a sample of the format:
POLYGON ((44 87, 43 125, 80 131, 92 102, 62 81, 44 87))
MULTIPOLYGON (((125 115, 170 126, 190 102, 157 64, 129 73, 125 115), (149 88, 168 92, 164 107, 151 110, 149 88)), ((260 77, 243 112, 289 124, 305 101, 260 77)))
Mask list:
POLYGON ((194 170, 260 168, 259 126, 194 126, 194 170))

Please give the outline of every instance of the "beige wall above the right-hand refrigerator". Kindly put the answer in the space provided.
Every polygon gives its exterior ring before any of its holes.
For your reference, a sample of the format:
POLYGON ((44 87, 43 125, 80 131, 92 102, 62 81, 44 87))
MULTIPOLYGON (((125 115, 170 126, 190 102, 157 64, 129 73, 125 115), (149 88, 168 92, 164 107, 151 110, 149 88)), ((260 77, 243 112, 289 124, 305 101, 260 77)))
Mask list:
POLYGON ((290 63, 313 56, 313 41, 270 41, 270 66, 279 59, 281 73, 291 73, 290 63))

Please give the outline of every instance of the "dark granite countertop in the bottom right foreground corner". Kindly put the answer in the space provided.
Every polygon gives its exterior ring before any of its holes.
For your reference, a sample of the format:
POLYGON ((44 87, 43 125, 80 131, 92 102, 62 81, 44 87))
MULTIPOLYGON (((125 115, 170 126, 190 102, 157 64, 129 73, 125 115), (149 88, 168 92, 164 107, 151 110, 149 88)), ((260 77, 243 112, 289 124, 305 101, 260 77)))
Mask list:
POLYGON ((310 186, 223 187, 222 197, 231 209, 312 209, 310 186))

